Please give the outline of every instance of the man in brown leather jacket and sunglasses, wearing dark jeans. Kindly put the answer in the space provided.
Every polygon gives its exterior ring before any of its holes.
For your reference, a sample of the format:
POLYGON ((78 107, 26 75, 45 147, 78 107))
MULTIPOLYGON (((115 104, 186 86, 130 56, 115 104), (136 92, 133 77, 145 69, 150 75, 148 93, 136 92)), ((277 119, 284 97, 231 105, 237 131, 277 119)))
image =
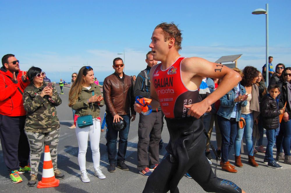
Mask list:
POLYGON ((106 123, 107 123, 107 147, 108 147, 108 171, 114 172, 115 166, 127 171, 129 168, 125 165, 125 153, 127 148, 127 136, 129 132, 130 119, 134 121, 136 112, 134 111, 134 93, 132 78, 123 73, 123 60, 115 58, 113 60, 113 69, 115 72, 104 79, 103 96, 106 105, 106 123), (131 111, 131 113, 130 113, 131 111), (130 116, 131 114, 131 116, 130 116), (120 119, 126 122, 124 130, 119 131, 119 144, 116 160, 116 140, 118 131, 113 129, 113 122, 119 122, 120 119))

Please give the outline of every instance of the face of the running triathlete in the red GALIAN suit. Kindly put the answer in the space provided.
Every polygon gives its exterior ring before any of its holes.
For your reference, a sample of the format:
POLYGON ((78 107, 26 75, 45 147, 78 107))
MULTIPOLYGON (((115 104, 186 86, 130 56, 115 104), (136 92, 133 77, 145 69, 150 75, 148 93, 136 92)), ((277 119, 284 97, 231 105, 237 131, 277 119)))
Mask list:
POLYGON ((153 59, 157 61, 161 61, 165 54, 167 54, 169 50, 169 40, 165 42, 164 34, 162 28, 157 28, 152 33, 152 42, 150 43, 150 48, 152 49, 153 59))

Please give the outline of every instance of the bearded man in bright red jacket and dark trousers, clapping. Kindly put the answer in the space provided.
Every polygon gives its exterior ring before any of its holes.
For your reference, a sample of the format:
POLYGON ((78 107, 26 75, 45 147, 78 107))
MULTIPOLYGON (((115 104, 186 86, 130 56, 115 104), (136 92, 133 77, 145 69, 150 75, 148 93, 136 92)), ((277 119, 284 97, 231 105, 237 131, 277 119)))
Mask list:
POLYGON ((28 165, 29 144, 24 133, 26 111, 22 94, 29 80, 26 72, 19 70, 19 60, 13 54, 2 58, 0 68, 0 139, 3 158, 10 180, 22 182, 19 174, 30 171, 28 165))

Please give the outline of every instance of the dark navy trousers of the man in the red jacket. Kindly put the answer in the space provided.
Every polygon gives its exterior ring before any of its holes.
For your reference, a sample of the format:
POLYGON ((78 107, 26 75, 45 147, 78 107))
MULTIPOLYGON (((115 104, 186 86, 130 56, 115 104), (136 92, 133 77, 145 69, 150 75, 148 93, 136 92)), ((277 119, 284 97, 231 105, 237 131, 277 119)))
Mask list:
POLYGON ((3 159, 8 171, 24 167, 29 159, 29 144, 24 133, 25 116, 0 115, 0 137, 3 159))

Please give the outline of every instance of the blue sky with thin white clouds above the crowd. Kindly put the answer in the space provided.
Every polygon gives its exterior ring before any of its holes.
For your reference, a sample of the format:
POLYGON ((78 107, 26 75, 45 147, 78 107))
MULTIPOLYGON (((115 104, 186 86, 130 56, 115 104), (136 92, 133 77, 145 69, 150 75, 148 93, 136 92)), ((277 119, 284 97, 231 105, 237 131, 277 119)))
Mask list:
POLYGON ((161 22, 183 33, 182 56, 215 62, 243 54, 238 67, 265 64, 265 15, 252 15, 269 3, 269 55, 291 66, 291 1, 0 1, 0 53, 13 53, 20 68, 42 68, 49 78, 69 82, 84 64, 103 81, 112 61, 123 58, 125 73, 146 67, 150 37, 161 22), (178 2, 178 3, 177 3, 178 2))

